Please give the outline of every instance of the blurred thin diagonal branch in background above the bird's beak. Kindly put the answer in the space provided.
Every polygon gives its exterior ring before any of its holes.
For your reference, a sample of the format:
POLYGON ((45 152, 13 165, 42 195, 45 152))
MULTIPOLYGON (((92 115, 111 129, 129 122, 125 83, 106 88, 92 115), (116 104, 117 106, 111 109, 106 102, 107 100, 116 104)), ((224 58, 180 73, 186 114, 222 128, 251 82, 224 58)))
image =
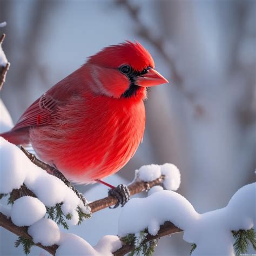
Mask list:
POLYGON ((190 102, 190 104, 193 106, 196 114, 198 116, 202 116, 205 113, 205 109, 203 106, 195 102, 193 93, 190 93, 186 90, 183 77, 179 74, 177 66, 174 63, 173 59, 170 57, 170 54, 165 50, 165 39, 163 37, 156 38, 147 28, 147 26, 140 20, 139 6, 131 4, 129 0, 116 0, 116 3, 119 5, 123 5, 125 10, 127 10, 129 15, 131 16, 132 20, 136 22, 138 35, 144 38, 147 42, 151 43, 154 48, 158 50, 158 52, 165 59, 165 61, 169 64, 171 68, 171 83, 176 85, 180 89, 183 95, 188 99, 188 102, 190 102))

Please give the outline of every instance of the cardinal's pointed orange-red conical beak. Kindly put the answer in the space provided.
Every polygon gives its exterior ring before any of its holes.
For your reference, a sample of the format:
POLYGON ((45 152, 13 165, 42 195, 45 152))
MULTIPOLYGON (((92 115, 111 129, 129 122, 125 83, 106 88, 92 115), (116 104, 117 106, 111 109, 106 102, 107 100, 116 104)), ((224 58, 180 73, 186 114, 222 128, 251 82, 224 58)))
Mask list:
POLYGON ((136 80, 136 84, 143 87, 151 87, 159 84, 169 83, 162 75, 160 75, 156 70, 149 69, 147 73, 139 76, 136 80))

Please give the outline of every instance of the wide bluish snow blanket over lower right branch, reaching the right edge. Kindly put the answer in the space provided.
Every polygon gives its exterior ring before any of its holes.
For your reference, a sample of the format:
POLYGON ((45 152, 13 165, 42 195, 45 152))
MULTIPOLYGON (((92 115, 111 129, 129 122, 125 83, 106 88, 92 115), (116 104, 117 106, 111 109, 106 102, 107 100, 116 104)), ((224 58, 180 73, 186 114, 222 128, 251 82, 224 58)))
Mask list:
POLYGON ((234 255, 232 230, 248 230, 255 223, 256 183, 238 190, 226 207, 197 213, 180 194, 158 191, 147 198, 131 199, 122 209, 118 234, 124 236, 148 228, 156 235, 165 221, 184 230, 183 239, 197 245, 192 255, 234 255), (234 214, 235 213, 235 214, 234 214))

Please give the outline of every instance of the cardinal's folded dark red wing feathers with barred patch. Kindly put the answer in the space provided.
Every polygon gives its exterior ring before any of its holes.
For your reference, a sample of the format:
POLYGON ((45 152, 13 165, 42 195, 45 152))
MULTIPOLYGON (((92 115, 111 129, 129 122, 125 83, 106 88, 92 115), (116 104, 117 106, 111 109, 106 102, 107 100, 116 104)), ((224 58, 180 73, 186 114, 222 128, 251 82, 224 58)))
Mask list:
POLYGON ((47 92, 44 93, 22 114, 12 130, 48 124, 51 114, 56 111, 58 105, 58 99, 47 92))

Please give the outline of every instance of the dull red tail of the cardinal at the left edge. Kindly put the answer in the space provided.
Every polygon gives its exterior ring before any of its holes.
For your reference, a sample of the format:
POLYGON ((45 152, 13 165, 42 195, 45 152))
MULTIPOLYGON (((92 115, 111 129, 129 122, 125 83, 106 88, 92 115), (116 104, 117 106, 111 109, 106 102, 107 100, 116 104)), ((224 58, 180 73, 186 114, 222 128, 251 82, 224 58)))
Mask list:
POLYGON ((28 128, 10 130, 8 132, 0 133, 0 136, 15 145, 26 145, 29 144, 30 140, 28 128))

